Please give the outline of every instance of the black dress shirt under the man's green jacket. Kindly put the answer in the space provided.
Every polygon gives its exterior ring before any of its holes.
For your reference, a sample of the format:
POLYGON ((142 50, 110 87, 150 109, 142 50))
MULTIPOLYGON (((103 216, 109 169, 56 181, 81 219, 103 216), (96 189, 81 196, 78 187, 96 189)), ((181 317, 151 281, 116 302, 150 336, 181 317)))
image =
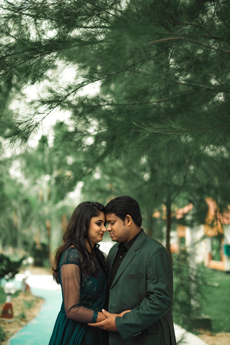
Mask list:
MULTIPOLYGON (((143 231, 143 229, 141 229, 141 231, 143 231)), ((120 264, 122 263, 122 260, 124 259, 124 257, 128 253, 128 250, 131 248, 138 236, 140 235, 141 231, 137 235, 135 235, 127 244, 119 243, 118 245, 118 251, 111 267, 109 282, 107 285, 106 302, 104 306, 104 309, 106 310, 108 310, 109 307, 109 290, 112 285, 113 279, 116 276, 116 273, 118 271, 118 268, 120 267, 120 264)))

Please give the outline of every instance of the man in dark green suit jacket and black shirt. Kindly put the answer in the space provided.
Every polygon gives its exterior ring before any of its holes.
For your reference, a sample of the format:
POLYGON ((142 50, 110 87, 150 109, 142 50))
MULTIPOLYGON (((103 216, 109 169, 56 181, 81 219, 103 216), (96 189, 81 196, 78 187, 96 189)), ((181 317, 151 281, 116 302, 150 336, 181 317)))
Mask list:
POLYGON ((90 325, 109 331, 110 345, 176 345, 167 250, 141 229, 140 208, 131 197, 109 201, 106 221, 112 241, 118 242, 108 254, 107 318, 90 325))

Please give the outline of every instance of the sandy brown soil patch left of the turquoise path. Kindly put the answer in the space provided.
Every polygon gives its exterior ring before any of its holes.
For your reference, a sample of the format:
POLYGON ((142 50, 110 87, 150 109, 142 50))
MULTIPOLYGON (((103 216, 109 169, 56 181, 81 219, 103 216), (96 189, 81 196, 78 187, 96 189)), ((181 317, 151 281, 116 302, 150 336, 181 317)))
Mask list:
MULTIPOLYGON (((31 321, 38 314, 43 303, 42 298, 35 297, 30 293, 20 292, 17 297, 12 298, 14 319, 11 322, 0 319, 0 326, 6 333, 6 339, 0 341, 0 345, 3 345, 7 339, 31 321)), ((0 304, 0 310, 2 307, 3 304, 0 304)))

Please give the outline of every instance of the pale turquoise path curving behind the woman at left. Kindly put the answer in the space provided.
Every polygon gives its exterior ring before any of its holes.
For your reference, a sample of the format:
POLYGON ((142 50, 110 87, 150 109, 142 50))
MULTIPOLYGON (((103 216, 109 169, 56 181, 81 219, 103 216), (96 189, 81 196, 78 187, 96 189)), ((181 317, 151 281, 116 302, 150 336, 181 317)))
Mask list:
POLYGON ((38 315, 14 334, 5 345, 48 345, 58 312, 61 307, 61 290, 31 288, 34 296, 42 297, 38 315))

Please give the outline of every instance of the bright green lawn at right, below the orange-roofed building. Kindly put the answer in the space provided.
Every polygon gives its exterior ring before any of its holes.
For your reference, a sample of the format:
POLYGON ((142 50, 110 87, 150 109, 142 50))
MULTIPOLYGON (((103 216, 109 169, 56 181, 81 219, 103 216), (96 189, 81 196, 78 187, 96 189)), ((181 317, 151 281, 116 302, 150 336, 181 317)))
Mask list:
POLYGON ((203 286, 202 313, 211 317, 214 333, 230 332, 230 273, 207 269, 209 286, 203 286), (211 284, 218 283, 219 286, 211 284))

